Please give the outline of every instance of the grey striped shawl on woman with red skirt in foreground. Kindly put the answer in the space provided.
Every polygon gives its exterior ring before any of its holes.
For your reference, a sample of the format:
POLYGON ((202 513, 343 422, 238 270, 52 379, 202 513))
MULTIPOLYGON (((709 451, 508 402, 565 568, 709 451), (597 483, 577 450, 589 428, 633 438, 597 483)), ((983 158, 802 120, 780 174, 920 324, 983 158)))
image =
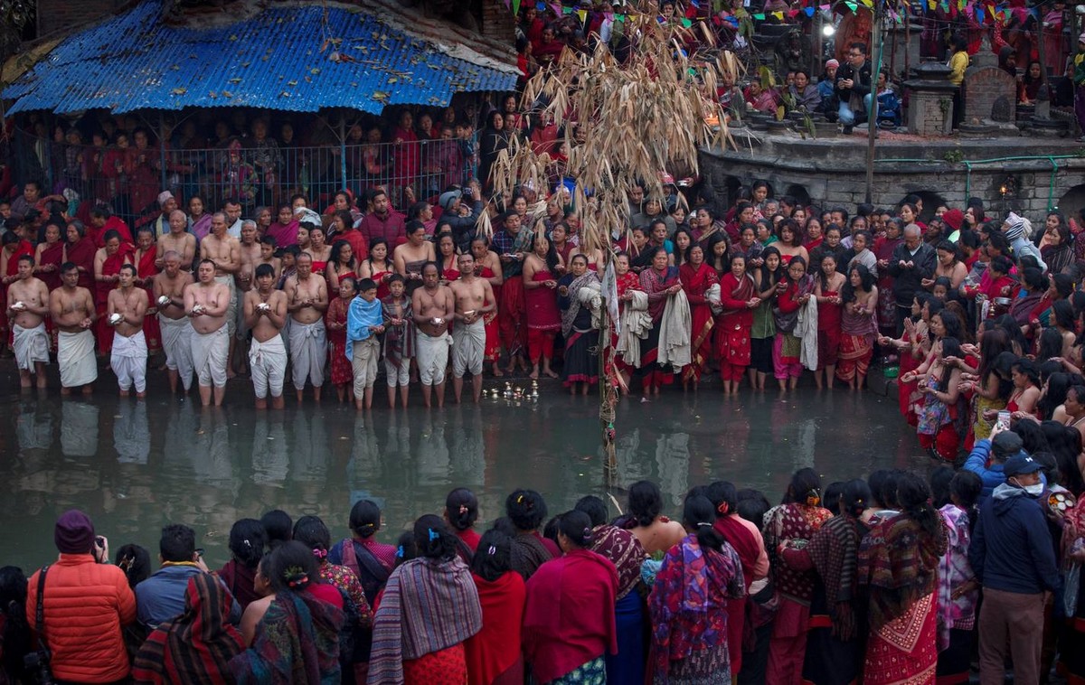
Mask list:
POLYGON ((403 683, 404 660, 455 647, 480 630, 478 590, 463 561, 411 559, 384 586, 373 622, 369 682, 403 683))

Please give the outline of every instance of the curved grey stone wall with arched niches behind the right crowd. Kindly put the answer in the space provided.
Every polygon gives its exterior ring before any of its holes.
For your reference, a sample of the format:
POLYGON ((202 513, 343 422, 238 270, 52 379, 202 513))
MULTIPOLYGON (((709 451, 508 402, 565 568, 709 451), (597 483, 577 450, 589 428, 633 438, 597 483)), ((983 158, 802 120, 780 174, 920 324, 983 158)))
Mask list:
MULTIPOLYGON (((837 142, 783 135, 767 135, 760 142, 738 140, 742 146, 738 151, 702 151, 700 156, 701 176, 712 184, 718 203, 729 201, 728 188, 749 185, 756 179, 768 181, 777 196, 799 186, 813 204, 821 206, 840 205, 852 211, 866 202, 865 137, 837 142)), ((915 142, 879 141, 876 159, 880 161, 875 165, 872 203, 879 207, 894 206, 905 195, 922 192, 963 208, 968 197, 973 196, 983 198, 996 210, 1001 208, 998 203, 1006 208, 1018 208, 1035 221, 1049 204, 1056 205, 1072 189, 1085 184, 1085 157, 1056 160, 1059 168, 1052 191, 1051 161, 1045 157, 992 164, 973 161, 969 173, 965 164, 946 161, 946 153, 954 151, 962 154, 963 159, 980 160, 1065 155, 1076 150, 1065 142, 1022 138, 952 143, 929 140, 922 146, 915 142), (923 161, 895 161, 908 158, 923 161), (1019 190, 1016 196, 1001 203, 999 188, 1010 173, 1018 180, 1019 190)), ((1062 209, 1073 211, 1076 207, 1062 209)))

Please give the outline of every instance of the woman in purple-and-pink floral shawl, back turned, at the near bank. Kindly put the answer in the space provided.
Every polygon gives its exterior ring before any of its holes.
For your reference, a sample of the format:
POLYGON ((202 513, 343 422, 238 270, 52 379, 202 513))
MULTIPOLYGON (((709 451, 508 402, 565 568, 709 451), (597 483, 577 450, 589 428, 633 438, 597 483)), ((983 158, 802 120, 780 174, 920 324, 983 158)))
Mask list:
POLYGON ((686 496, 687 535, 671 547, 648 599, 655 683, 731 682, 728 600, 745 596, 742 563, 714 528, 716 507, 698 491, 686 496))

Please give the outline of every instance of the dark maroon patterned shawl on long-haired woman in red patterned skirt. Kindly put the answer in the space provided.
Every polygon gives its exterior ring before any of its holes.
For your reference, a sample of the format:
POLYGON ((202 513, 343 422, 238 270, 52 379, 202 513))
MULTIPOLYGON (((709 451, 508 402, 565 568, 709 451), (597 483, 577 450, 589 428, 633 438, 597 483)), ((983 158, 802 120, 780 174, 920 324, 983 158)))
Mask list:
POLYGON ((870 629, 881 630, 935 591, 939 560, 948 548, 946 527, 929 535, 911 517, 879 521, 859 547, 859 584, 869 585, 870 629))

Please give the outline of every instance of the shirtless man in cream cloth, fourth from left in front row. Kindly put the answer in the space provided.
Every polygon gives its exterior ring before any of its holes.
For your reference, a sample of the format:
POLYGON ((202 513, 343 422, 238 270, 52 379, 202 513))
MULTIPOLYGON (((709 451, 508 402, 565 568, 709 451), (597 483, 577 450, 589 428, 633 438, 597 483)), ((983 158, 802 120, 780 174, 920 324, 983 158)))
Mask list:
MULTIPOLYGON (((159 245, 163 238, 158 238, 159 245)), ((162 349, 166 352, 169 392, 177 395, 180 377, 181 387, 188 395, 192 388, 192 322, 184 315, 184 287, 192 283, 192 274, 181 270, 183 257, 177 251, 168 250, 162 258, 165 269, 154 276, 152 285, 162 328, 162 349)))

